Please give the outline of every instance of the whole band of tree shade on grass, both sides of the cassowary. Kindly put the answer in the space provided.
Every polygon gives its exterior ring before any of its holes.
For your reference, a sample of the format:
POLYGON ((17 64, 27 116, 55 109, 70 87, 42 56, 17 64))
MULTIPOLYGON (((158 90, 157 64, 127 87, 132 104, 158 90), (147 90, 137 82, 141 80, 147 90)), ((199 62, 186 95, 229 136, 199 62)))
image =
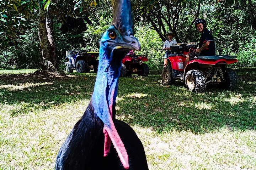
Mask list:
MULTIPOLYGON (((239 85, 234 91, 209 87, 198 94, 185 89, 181 81, 162 86, 159 74, 120 78, 117 115, 123 115, 123 120, 129 124, 154 128, 159 133, 175 129, 198 134, 222 127, 255 130, 256 70, 238 70, 238 75, 239 85)), ((19 75, 18 81, 15 81, 16 77, 8 76, 4 85, 10 87, 0 88, 0 103, 17 105, 9 112, 12 116, 89 100, 95 82, 94 73, 61 78, 19 75), (15 89, 12 85, 24 85, 24 88, 15 89)), ((0 81, 3 81, 2 77, 0 81)))

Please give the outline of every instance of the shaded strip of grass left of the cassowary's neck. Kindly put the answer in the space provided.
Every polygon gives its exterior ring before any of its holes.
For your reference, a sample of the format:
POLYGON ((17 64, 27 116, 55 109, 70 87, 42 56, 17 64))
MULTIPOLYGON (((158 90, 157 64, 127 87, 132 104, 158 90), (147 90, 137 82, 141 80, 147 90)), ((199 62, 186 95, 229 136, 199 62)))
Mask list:
POLYGON ((89 100, 95 82, 94 74, 84 76, 40 77, 33 74, 0 77, 0 106, 14 106, 12 116, 36 109, 50 109, 62 103, 89 100))

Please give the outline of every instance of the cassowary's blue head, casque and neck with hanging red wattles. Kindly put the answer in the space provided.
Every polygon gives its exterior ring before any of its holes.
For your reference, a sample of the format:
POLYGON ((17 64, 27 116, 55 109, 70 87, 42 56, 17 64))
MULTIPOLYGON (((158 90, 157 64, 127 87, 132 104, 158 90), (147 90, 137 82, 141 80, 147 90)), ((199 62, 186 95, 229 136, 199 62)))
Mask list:
POLYGON ((117 96, 117 81, 121 62, 130 50, 140 51, 140 44, 133 36, 134 24, 129 0, 112 0, 113 21, 100 41, 100 60, 92 95, 95 114, 103 122, 105 135, 104 156, 113 143, 125 169, 129 168, 126 148, 118 135, 113 120, 113 105, 117 96))

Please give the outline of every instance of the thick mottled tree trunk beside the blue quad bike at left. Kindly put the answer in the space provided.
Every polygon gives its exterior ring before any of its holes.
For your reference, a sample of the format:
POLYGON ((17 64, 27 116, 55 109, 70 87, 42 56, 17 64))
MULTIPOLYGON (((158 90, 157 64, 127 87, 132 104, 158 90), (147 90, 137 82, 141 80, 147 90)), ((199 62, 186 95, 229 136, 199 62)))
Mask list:
POLYGON ((54 39, 52 34, 52 19, 50 10, 43 11, 39 9, 37 15, 38 36, 42 54, 42 69, 54 71, 57 67, 57 58, 55 53, 54 39))

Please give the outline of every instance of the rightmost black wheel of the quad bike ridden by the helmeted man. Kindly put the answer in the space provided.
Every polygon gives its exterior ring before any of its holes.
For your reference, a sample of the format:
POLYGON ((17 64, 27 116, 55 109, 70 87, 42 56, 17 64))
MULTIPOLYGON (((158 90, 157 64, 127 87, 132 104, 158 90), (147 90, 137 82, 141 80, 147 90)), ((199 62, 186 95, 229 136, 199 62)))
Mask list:
POLYGON ((227 68, 224 73, 224 86, 227 89, 233 90, 236 88, 238 83, 238 77, 236 75, 236 72, 230 68, 227 68))

